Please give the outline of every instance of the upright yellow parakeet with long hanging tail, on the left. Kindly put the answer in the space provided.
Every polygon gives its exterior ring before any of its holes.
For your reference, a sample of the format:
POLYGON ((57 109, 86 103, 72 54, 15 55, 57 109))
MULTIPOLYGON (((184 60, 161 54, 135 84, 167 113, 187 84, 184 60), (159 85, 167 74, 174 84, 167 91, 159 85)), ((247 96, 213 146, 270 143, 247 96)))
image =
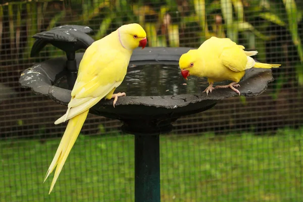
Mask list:
POLYGON ((89 109, 102 98, 114 98, 114 107, 119 96, 113 94, 122 83, 133 49, 146 45, 146 33, 139 24, 123 25, 104 38, 93 42, 85 51, 79 65, 78 77, 72 90, 72 98, 65 115, 55 124, 69 120, 55 157, 45 179, 56 168, 49 193, 51 193, 63 165, 74 145, 89 109))

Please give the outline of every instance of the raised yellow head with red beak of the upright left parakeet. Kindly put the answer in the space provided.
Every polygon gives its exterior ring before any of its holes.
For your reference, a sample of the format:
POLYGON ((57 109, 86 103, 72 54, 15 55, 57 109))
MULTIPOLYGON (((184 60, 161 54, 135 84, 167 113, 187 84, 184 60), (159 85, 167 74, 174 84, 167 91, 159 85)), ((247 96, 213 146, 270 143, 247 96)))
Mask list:
POLYGON ((133 23, 123 25, 118 29, 119 39, 123 47, 132 51, 136 47, 145 47, 146 32, 141 25, 133 23))

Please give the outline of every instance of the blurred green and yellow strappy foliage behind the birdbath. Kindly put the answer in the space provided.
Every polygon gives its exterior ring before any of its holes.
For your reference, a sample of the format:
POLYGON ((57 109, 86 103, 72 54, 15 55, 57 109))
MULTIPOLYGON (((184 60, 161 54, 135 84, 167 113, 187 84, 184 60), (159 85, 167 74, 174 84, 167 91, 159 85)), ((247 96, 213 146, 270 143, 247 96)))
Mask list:
MULTIPOLYGON (((297 2, 294 0, 8 1, 0 5, 0 53, 2 56, 9 57, 12 64, 22 62, 20 60, 22 58, 28 60, 34 42, 32 35, 67 22, 89 25, 95 31, 93 35, 95 40, 123 24, 137 22, 146 30, 149 46, 198 47, 211 36, 217 36, 229 37, 243 44, 247 49, 257 48, 259 51, 257 60, 263 62, 287 65, 289 61, 281 61, 279 56, 283 54, 284 58, 299 61, 292 67, 295 68, 297 78, 292 84, 298 82, 302 85, 303 32, 299 32, 299 28, 302 27, 303 8, 297 6, 297 2), (291 36, 291 41, 285 39, 287 35, 291 36), (292 48, 295 48, 296 55, 287 57, 292 48), (7 50, 10 50, 10 53, 7 53, 7 50), (272 61, 267 61, 267 57, 272 61)), ((44 50, 41 56, 46 58, 63 55, 61 50, 50 45, 44 50)), ((277 71, 287 71, 287 68, 277 71)), ((281 88, 285 82, 287 82, 285 75, 279 74, 277 88, 281 88)))

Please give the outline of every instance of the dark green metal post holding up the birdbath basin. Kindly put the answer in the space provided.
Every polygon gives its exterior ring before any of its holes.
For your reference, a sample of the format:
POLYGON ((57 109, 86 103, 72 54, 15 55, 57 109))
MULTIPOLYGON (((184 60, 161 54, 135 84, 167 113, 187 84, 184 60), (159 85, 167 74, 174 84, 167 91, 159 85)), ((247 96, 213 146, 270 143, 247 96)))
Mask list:
POLYGON ((135 135, 135 202, 160 202, 159 135, 135 135))

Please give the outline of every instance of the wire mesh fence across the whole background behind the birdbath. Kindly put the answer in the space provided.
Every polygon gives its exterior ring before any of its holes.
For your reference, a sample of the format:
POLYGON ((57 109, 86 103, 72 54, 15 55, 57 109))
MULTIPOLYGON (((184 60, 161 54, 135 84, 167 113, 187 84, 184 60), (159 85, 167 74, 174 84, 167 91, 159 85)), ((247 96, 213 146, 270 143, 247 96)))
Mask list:
POLYGON ((66 107, 18 84, 26 68, 65 55, 47 45, 30 57, 35 33, 77 24, 97 40, 133 22, 147 46, 197 48, 229 37, 257 49, 256 60, 282 64, 263 94, 224 99, 161 136, 162 201, 300 201, 302 15, 294 0, 0 3, 0 201, 134 201, 134 138, 120 121, 92 114, 48 195, 43 178, 66 128, 54 121, 66 107))

